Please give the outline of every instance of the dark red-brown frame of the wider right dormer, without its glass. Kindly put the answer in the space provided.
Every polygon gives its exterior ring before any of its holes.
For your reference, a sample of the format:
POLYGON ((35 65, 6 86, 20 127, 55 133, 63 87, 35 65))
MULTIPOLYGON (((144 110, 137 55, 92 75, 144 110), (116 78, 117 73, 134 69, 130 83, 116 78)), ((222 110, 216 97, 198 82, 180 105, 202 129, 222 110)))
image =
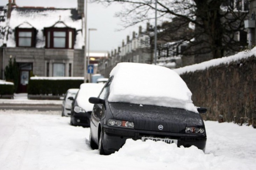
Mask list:
POLYGON ((76 29, 74 28, 54 28, 54 27, 50 27, 50 28, 44 28, 44 35, 45 35, 45 49, 74 49, 74 42, 75 42, 75 31, 76 29), (66 33, 66 38, 65 38, 65 47, 54 47, 54 32, 65 32, 66 33), (50 34, 49 34, 50 32, 50 34), (70 48, 70 33, 71 34, 71 39, 72 39, 72 44, 71 44, 71 48, 70 48), (49 36, 50 39, 49 39, 49 36), (48 45, 48 43, 50 43, 48 45))

